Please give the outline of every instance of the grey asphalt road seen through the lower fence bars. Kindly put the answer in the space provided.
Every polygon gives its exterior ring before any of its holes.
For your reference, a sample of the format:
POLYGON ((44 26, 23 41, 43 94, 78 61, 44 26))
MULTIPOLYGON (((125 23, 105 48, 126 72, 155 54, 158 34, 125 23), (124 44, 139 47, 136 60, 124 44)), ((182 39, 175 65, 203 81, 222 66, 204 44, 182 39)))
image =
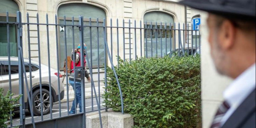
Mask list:
MULTIPOLYGON (((104 109, 104 106, 102 106, 103 105, 102 104, 103 100, 104 100, 103 98, 100 99, 100 102, 101 102, 100 109, 104 109)), ((61 107, 60 107, 61 108, 60 109, 61 116, 68 115, 67 105, 68 105, 67 102, 66 103, 61 103, 61 107)), ((71 106, 72 106, 72 101, 69 102, 69 108, 71 108, 71 106)), ((94 100, 93 100, 93 107, 91 107, 91 99, 86 99, 85 100, 85 111, 89 112, 89 111, 92 111, 92 110, 98 110, 96 99, 94 98, 94 100)), ((79 113, 79 105, 77 105, 77 113, 79 113)), ((59 117, 59 104, 54 104, 53 105, 52 117, 53 118, 59 117)), ((50 118, 51 118, 50 113, 43 116, 43 120, 50 119, 50 118)), ((34 121, 35 122, 41 121, 41 116, 34 116, 34 121)), ((30 112, 28 110, 26 110, 25 122, 26 122, 26 124, 29 124, 29 123, 32 122, 31 121, 31 115, 30 115, 30 112)), ((18 125, 18 124, 20 124, 19 113, 15 112, 15 115, 13 117, 13 126, 18 125)))

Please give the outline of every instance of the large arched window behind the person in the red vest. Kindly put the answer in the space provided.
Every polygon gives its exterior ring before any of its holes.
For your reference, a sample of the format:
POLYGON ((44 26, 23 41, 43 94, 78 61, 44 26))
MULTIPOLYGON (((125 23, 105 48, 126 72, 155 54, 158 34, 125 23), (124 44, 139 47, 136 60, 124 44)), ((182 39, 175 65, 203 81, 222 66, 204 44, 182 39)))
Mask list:
MULTIPOLYGON (((72 16, 74 16, 74 24, 79 25, 79 16, 84 16, 84 25, 89 25, 89 17, 91 17, 91 25, 97 25, 97 18, 99 18, 99 26, 103 26, 103 19, 106 18, 106 13, 103 9, 98 8, 93 5, 84 4, 84 3, 69 3, 60 5, 58 8, 58 22, 59 24, 64 24, 63 16, 66 16, 66 24, 72 25, 72 16)), ((66 30, 59 28, 59 52, 60 52, 60 67, 63 67, 65 56, 65 42, 64 42, 64 31, 66 31, 67 39, 67 55, 70 56, 73 49, 73 38, 72 38, 72 26, 66 26, 66 30)), ((84 28, 84 43, 87 45, 87 53, 90 59, 92 54, 93 58, 93 67, 98 66, 98 43, 97 43, 97 28, 91 27, 91 39, 92 46, 90 46, 90 30, 89 27, 84 28), (90 48, 92 48, 92 53, 90 53, 90 48)), ((99 27, 99 59, 100 66, 103 66, 104 63, 104 31, 102 27, 99 27)), ((74 41, 75 48, 80 44, 80 31, 78 27, 74 28, 74 41)), ((90 63, 91 64, 91 63, 90 63)), ((88 66, 88 65, 87 65, 88 66)))

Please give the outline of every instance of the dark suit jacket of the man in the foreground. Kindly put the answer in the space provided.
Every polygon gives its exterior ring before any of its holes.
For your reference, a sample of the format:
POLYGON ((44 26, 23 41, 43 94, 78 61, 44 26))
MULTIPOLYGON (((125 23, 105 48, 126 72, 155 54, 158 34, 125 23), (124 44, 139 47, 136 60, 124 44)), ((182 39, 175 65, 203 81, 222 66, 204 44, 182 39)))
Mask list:
POLYGON ((256 128, 255 89, 228 118, 222 128, 256 128))

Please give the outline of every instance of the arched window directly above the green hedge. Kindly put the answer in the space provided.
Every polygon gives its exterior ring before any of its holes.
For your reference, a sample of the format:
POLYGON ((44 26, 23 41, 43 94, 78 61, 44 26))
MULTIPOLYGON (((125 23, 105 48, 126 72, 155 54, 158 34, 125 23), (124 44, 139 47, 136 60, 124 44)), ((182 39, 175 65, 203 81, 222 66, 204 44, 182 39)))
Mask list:
MULTIPOLYGON (((153 11, 153 12, 147 12, 144 15, 144 27, 145 28, 165 28, 165 23, 167 23, 167 29, 170 28, 170 23, 171 23, 171 28, 173 27, 174 20, 173 16, 170 14, 160 12, 160 11, 153 11), (146 23, 147 22, 147 23, 146 23), (152 22, 152 26, 151 26, 152 22), (157 23, 157 26, 156 26, 157 23), (162 26, 161 26, 162 23, 162 26)), ((147 29, 144 33, 144 51, 145 51, 145 56, 146 56, 146 51, 147 51, 147 56, 150 57, 151 55, 155 56, 156 55, 156 47, 157 47, 157 56, 161 55, 166 55, 168 52, 171 52, 170 49, 170 40, 172 40, 172 49, 174 46, 173 43, 173 32, 170 30, 149 30, 147 29), (152 40, 152 42, 151 42, 152 40), (156 44, 157 40, 157 44, 156 44), (161 46, 161 40, 162 40, 162 46, 161 46), (157 46, 156 46, 157 45, 157 46), (147 46, 147 47, 146 47, 147 46), (161 51, 162 47, 162 51, 161 51), (153 53, 151 52, 153 51, 153 53)))

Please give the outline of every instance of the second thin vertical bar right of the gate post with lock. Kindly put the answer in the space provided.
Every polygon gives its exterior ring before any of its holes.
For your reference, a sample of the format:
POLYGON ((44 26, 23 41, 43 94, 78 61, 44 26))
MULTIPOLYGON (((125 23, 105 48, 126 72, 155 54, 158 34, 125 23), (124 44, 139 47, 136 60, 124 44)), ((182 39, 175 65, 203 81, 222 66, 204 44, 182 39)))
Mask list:
MULTIPOLYGON (((97 26, 99 26, 99 18, 97 18, 97 26)), ((99 27, 97 27, 97 53, 98 53, 98 91, 100 103, 100 44, 99 44, 99 27)))

